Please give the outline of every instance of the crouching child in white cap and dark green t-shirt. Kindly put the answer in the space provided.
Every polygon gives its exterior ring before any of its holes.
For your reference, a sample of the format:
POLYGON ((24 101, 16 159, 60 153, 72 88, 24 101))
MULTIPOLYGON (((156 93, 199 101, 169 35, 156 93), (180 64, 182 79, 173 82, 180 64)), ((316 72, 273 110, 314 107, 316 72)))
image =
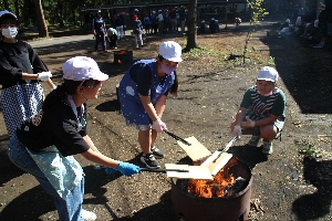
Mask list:
POLYGON ((263 139, 263 154, 272 154, 272 140, 281 133, 286 119, 286 97, 276 87, 278 72, 264 66, 259 71, 256 86, 250 87, 243 95, 240 108, 231 123, 231 131, 238 137, 241 134, 253 135, 249 146, 258 146, 263 139))

